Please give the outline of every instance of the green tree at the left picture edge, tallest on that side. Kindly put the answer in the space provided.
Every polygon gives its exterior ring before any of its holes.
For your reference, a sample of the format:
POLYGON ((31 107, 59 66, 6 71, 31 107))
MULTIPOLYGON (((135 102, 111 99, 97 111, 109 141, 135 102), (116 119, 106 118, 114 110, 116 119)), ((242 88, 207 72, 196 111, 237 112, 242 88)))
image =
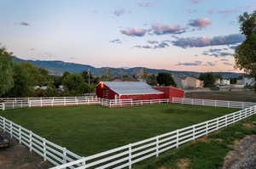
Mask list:
POLYGON ((0 48, 0 96, 14 87, 13 54, 0 48))

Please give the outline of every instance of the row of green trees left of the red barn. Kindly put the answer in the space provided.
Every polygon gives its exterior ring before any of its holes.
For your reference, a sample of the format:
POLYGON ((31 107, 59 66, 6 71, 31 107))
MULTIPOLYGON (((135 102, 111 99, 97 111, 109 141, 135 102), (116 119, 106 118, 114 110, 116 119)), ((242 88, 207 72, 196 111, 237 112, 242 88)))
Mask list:
POLYGON ((44 68, 14 62, 14 57, 0 48, 0 97, 79 96, 93 92, 98 82, 87 71, 51 76, 44 68))

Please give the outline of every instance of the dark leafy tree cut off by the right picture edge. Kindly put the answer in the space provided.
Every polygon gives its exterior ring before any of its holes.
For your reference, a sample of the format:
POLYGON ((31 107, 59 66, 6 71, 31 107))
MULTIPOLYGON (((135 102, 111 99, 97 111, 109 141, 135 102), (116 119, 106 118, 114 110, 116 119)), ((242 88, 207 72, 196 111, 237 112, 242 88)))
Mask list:
MULTIPOLYGON (((240 31, 246 40, 236 48, 236 68, 244 70, 256 79, 256 11, 239 17, 240 31)), ((254 87, 256 89, 256 85, 254 87)))

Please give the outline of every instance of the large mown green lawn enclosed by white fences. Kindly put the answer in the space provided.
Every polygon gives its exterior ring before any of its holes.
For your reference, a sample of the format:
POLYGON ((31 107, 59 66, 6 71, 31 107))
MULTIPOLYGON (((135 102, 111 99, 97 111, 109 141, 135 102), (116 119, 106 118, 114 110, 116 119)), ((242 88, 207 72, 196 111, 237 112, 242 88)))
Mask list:
POLYGON ((6 110, 0 115, 55 144, 87 156, 234 111, 184 104, 114 109, 85 105, 6 110))

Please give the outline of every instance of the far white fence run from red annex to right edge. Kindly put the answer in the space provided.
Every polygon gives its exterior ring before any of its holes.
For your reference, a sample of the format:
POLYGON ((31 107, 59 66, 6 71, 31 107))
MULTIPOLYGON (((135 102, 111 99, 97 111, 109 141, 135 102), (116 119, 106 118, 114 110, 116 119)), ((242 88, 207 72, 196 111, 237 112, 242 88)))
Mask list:
POLYGON ((246 109, 256 105, 256 103, 253 103, 253 102, 236 102, 236 101, 225 101, 225 100, 187 99, 187 98, 172 98, 172 103, 205 105, 205 106, 226 107, 226 108, 236 108, 236 109, 246 109))

